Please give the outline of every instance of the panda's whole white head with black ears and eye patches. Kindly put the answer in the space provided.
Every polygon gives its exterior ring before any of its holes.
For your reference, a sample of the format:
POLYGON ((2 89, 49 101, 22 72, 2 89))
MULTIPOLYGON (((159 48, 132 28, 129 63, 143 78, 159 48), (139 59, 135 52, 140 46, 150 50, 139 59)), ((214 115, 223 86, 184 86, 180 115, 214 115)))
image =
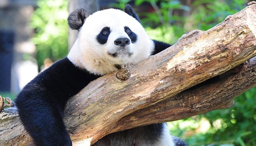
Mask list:
POLYGON ((116 71, 117 66, 136 64, 154 49, 130 5, 125 6, 125 11, 105 9, 92 15, 77 9, 69 15, 68 24, 79 31, 68 58, 93 74, 103 75, 116 71))

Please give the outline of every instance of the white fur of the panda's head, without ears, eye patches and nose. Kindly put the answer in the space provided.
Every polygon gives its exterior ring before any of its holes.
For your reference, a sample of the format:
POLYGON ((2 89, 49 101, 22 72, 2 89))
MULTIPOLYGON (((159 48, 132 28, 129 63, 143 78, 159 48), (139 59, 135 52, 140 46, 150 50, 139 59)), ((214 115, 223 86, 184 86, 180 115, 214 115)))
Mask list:
POLYGON ((105 9, 86 18, 68 58, 80 68, 103 75, 116 71, 116 64, 137 64, 149 57, 153 49, 153 41, 135 18, 118 9, 105 9), (125 46, 123 51, 118 51, 117 57, 113 57, 108 53, 120 50, 114 41, 117 38, 129 38, 124 31, 125 26, 137 35, 137 41, 125 46), (101 45, 97 42, 97 35, 104 27, 110 27, 111 33, 108 41, 101 45))

